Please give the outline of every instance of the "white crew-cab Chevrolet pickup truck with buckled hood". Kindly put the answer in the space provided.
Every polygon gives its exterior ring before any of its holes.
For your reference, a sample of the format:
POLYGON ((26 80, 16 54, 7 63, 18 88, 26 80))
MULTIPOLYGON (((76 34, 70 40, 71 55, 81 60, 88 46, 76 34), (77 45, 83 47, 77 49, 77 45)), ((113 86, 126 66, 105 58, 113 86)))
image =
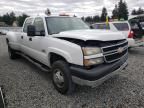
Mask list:
POLYGON ((50 69, 62 94, 72 93, 75 84, 96 86, 127 66, 125 36, 91 30, 75 17, 27 18, 21 32, 7 33, 6 42, 11 59, 24 55, 50 69))

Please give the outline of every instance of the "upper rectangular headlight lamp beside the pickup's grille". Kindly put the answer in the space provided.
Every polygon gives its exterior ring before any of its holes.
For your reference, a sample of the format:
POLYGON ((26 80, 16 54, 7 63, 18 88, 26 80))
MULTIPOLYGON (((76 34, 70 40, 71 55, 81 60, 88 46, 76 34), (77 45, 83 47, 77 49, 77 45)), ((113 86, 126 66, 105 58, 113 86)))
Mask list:
POLYGON ((99 47, 84 47, 82 48, 84 56, 95 55, 101 53, 101 48, 99 47))

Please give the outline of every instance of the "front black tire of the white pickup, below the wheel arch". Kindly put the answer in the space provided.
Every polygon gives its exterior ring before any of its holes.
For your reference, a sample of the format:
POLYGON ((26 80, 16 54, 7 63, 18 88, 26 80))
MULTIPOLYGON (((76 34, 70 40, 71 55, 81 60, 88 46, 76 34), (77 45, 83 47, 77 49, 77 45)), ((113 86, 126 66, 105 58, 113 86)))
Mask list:
MULTIPOLYGON (((59 79, 59 78, 57 78, 59 79)), ((72 94, 75 89, 75 84, 72 82, 71 72, 68 63, 65 61, 56 61, 52 65, 52 82, 56 90, 61 94, 72 94), (63 83, 58 85, 56 80, 56 71, 59 70, 63 83)))

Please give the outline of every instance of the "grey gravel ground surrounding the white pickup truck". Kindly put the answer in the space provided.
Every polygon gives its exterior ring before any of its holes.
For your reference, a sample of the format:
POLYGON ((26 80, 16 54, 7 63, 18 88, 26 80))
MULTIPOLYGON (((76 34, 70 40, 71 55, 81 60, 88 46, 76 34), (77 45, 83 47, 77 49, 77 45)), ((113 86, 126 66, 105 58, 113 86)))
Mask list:
POLYGON ((59 94, 50 74, 21 58, 10 60, 0 36, 0 86, 8 108, 144 108, 144 48, 132 49, 129 66, 91 88, 77 86, 71 96, 59 94))

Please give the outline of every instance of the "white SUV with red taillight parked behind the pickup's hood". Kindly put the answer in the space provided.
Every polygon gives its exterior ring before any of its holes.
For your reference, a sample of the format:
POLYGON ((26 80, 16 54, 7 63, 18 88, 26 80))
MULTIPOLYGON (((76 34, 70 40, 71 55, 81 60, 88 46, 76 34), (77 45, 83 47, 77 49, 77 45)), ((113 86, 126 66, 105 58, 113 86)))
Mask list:
POLYGON ((135 46, 135 40, 133 39, 134 33, 131 30, 131 27, 128 21, 114 21, 114 22, 109 22, 108 24, 106 24, 105 22, 95 23, 95 24, 92 24, 92 27, 94 29, 120 31, 127 38, 129 47, 135 46))

